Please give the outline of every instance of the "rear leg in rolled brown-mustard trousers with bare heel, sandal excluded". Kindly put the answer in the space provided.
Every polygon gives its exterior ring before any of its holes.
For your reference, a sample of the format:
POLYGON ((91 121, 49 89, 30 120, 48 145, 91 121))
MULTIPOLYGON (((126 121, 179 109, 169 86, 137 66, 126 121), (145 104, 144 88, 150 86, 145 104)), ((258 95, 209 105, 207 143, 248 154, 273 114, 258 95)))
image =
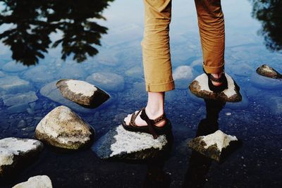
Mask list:
MULTIPOLYGON (((225 30, 220 0, 195 0, 200 30, 204 70, 215 78, 224 69, 225 30)), ((214 86, 221 82, 212 81, 214 86)))

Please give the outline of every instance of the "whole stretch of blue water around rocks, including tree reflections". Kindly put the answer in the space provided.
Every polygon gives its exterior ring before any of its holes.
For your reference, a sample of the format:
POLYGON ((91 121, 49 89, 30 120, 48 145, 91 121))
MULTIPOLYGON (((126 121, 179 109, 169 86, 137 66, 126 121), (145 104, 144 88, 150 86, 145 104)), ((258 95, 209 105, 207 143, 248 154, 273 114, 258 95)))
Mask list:
MULTIPOLYGON (((67 105, 94 127, 95 139, 146 105, 142 1, 8 2, 11 10, 0 19, 4 23, 0 27, 0 138, 32 138, 44 115, 61 105, 44 96, 42 87, 61 78, 87 80, 111 94, 111 100, 96 109, 67 105), (107 3, 110 6, 101 13, 107 3), (11 12, 13 19, 8 16, 11 12), (111 84, 95 81, 93 73, 106 75, 111 84), (20 84, 7 89, 3 87, 7 80, 20 84), (26 92, 38 99, 27 104, 16 97, 26 92), (4 104, 8 98, 13 100, 4 104)), ((54 187, 282 187, 282 83, 255 73, 264 63, 282 72, 281 2, 269 2, 269 6, 260 1, 222 2, 226 72, 243 94, 242 102, 226 104, 219 112, 219 129, 243 142, 226 161, 216 163, 188 149, 188 141, 205 125, 206 106, 187 89, 192 78, 202 73, 202 52, 195 6, 181 0, 173 2, 171 56, 173 70, 188 65, 192 77, 181 80, 182 74, 174 75, 176 90, 166 93, 174 136, 171 156, 159 163, 125 163, 101 161, 90 149, 57 153, 46 148, 3 187, 35 175, 48 175, 54 187)))

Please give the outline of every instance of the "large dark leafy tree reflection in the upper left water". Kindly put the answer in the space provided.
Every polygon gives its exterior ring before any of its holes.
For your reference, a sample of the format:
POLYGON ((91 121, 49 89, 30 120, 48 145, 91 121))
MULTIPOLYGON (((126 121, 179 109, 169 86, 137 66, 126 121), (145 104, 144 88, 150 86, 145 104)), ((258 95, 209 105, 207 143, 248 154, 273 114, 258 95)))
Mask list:
POLYGON ((0 13, 0 25, 13 26, 0 34, 4 44, 11 46, 12 58, 25 65, 33 65, 44 58, 51 39, 51 32, 62 32, 63 60, 74 54, 73 59, 85 61, 98 53, 92 45, 101 45, 100 38, 107 28, 95 19, 104 19, 102 11, 114 0, 0 0, 4 5, 0 13))

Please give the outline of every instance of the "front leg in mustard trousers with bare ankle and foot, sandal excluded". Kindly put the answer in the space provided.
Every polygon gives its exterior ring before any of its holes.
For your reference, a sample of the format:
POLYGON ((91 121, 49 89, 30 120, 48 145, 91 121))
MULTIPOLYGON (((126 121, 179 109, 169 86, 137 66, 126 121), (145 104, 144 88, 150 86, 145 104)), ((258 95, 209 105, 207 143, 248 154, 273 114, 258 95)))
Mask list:
MULTIPOLYGON (((148 102, 145 111, 150 119, 164 113, 164 92, 174 89, 169 48, 169 24, 171 23, 171 0, 144 0, 145 30, 142 40, 142 56, 148 102)), ((129 125, 131 115, 126 117, 129 125)), ((161 121, 157 126, 165 125, 161 121)), ((137 126, 147 125, 140 118, 135 119, 137 126)))

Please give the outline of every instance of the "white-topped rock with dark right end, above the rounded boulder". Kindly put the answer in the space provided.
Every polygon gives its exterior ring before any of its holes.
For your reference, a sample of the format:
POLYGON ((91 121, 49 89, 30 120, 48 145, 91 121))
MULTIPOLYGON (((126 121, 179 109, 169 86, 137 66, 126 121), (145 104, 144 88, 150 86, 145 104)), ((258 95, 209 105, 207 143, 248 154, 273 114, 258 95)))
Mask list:
POLYGON ((85 81, 63 79, 56 83, 56 87, 66 99, 87 108, 96 108, 109 99, 109 94, 85 81))

